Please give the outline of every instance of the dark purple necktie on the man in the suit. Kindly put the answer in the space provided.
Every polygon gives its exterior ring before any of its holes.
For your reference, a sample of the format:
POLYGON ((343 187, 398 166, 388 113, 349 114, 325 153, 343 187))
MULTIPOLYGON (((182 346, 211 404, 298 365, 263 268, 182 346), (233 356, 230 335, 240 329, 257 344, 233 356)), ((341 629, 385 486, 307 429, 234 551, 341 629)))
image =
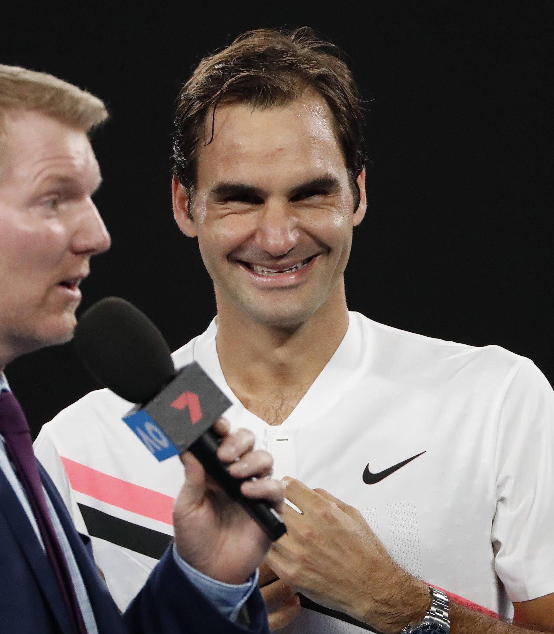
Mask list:
POLYGON ((75 633, 87 634, 67 562, 46 505, 41 477, 33 453, 29 424, 19 401, 7 391, 0 392, 0 434, 4 436, 8 455, 27 492, 29 505, 41 531, 46 555, 58 580, 75 633))

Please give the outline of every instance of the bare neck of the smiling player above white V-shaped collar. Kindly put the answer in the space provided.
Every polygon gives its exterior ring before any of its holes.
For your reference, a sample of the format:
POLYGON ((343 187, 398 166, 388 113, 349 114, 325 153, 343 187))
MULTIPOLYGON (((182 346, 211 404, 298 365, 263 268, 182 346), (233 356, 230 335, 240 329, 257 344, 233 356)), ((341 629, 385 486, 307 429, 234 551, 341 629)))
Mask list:
POLYGON ((344 338, 349 323, 344 288, 309 320, 290 329, 256 322, 221 303, 216 343, 226 381, 248 410, 280 424, 344 338), (264 415, 264 408, 281 411, 273 420, 273 415, 264 415))

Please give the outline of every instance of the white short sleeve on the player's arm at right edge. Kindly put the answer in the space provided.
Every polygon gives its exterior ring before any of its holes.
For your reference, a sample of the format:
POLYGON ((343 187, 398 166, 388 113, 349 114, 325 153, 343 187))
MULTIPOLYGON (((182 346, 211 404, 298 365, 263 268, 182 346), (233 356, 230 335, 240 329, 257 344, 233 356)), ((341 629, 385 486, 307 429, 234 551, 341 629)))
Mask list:
POLYGON ((499 411, 491 539, 510 600, 554 592, 554 392, 529 359, 499 411))

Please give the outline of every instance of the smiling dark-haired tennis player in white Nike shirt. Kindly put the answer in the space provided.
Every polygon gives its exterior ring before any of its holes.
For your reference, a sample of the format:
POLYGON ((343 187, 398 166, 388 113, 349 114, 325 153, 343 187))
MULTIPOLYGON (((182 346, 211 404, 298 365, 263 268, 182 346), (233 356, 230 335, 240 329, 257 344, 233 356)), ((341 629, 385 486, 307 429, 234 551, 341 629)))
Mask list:
MULTIPOLYGON (((501 347, 347 309, 367 206, 362 123, 349 68, 306 29, 244 34, 177 101, 174 214, 198 240, 217 317, 174 358, 200 363, 233 402, 233 428, 287 477, 288 533, 262 571, 270 625, 359 631, 301 610, 302 593, 391 634, 431 622, 511 634, 512 618, 554 631, 553 391, 501 347)), ((88 394, 36 445, 121 607, 172 534, 180 467, 145 458, 116 424, 128 408, 88 394)))

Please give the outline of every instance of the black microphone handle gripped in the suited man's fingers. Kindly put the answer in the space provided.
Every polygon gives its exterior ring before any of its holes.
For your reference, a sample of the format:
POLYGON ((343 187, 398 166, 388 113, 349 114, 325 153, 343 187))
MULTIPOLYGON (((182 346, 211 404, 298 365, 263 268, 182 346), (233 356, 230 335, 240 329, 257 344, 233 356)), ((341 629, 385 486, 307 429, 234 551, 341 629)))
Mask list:
POLYGON ((222 438, 214 430, 209 429, 191 444, 189 451, 200 461, 206 472, 221 486, 231 500, 237 501, 242 508, 257 522, 271 541, 278 540, 287 533, 285 522, 269 503, 261 500, 251 500, 242 495, 240 485, 250 478, 238 479, 227 470, 228 465, 217 457, 217 448, 222 438))

